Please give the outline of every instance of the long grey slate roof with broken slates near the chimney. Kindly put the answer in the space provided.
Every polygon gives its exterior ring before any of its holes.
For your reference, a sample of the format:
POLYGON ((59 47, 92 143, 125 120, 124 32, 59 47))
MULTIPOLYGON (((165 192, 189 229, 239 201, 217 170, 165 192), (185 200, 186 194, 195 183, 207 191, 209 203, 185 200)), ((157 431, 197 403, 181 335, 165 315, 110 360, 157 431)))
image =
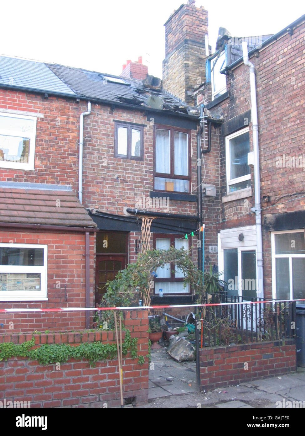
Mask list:
POLYGON ((0 56, 1 85, 191 114, 185 103, 142 80, 7 56, 0 56))

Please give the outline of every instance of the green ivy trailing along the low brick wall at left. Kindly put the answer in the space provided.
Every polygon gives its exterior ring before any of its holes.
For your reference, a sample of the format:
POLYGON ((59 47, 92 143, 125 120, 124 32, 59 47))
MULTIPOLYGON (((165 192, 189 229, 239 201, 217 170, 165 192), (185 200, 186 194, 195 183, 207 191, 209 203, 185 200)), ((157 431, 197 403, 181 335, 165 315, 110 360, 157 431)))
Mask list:
MULTIPOLYGON (((84 342, 76 347, 68 344, 43 344, 40 345, 40 347, 31 349, 34 346, 34 343, 34 338, 23 344, 4 342, 0 345, 0 361, 16 356, 25 357, 30 360, 37 360, 42 365, 67 362, 72 358, 77 360, 87 360, 90 364, 95 364, 97 361, 113 359, 117 356, 116 344, 84 342)), ((126 330, 125 340, 122 344, 123 355, 125 356, 128 351, 130 351, 132 359, 137 358, 137 338, 132 338, 130 331, 126 330)), ((143 361, 142 357, 143 356, 139 356, 139 363, 143 361)))

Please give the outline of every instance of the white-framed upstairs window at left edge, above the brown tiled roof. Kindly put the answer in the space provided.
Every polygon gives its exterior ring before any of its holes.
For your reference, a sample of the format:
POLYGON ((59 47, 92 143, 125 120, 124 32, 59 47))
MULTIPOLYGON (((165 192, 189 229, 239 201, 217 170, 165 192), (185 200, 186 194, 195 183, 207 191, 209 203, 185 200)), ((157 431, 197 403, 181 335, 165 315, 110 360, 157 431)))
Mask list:
POLYGON ((34 170, 35 116, 0 113, 0 167, 34 170))

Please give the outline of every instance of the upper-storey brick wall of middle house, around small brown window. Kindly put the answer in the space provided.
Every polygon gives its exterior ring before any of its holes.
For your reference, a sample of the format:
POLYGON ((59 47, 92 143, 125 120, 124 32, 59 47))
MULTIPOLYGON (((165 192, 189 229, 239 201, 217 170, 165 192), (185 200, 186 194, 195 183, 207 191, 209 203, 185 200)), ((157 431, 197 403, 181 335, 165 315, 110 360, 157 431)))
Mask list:
MULTIPOLYGON (((85 107, 84 107, 85 110, 85 107)), ((191 131, 191 181, 197 186, 196 132, 191 131)), ((83 202, 90 209, 124 215, 124 208, 135 208, 139 199, 149 198, 154 189, 153 126, 143 112, 92 105, 84 121, 83 202), (114 157, 114 121, 145 124, 144 160, 114 157), (117 179, 118 176, 118 179, 117 179)), ((166 192, 160 192, 166 197, 166 192)), ((141 201, 141 200, 140 200, 141 201)), ((162 209, 154 211, 164 212, 162 209)), ((168 213, 196 215, 196 202, 170 200, 168 213)))

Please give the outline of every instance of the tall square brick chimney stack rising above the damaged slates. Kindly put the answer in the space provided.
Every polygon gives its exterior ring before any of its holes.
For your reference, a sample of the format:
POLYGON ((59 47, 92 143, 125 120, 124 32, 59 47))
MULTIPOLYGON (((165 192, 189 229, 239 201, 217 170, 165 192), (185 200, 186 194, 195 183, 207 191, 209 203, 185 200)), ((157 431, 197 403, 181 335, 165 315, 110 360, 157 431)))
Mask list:
POLYGON ((193 89, 205 80, 205 43, 208 11, 182 4, 165 26, 163 88, 182 101, 195 105, 193 89))

